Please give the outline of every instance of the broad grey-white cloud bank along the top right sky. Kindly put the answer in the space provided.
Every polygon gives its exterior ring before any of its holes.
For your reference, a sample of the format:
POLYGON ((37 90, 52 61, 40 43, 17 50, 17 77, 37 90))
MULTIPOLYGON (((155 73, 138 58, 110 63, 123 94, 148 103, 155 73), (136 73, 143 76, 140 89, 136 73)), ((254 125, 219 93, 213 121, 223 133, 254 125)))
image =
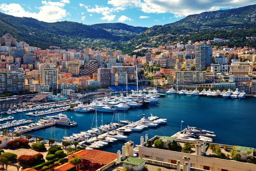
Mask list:
POLYGON ((144 13, 173 13, 175 17, 255 4, 255 0, 108 0, 114 8, 140 8, 144 13))

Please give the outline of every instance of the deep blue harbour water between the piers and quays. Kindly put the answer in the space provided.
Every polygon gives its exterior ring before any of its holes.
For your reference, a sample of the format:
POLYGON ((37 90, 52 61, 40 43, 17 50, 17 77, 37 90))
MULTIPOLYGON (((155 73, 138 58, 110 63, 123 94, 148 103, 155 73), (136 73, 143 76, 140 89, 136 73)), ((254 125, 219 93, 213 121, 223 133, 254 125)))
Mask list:
MULTIPOLYGON (((180 130, 181 120, 184 121, 183 128, 187 125, 215 131, 215 142, 229 145, 239 145, 256 148, 256 98, 246 99, 224 99, 210 98, 200 96, 181 96, 168 95, 162 98, 159 103, 149 108, 136 108, 128 110, 125 119, 137 121, 145 114, 150 113, 167 118, 167 125, 157 128, 148 128, 142 132, 132 132, 125 141, 117 141, 105 147, 104 150, 116 152, 120 150, 123 143, 132 140, 135 144, 140 143, 140 137, 148 134, 171 136, 180 130)), ((89 129, 92 125, 94 113, 85 114, 74 111, 62 112, 67 114, 71 120, 79 123, 77 127, 53 127, 30 132, 32 135, 43 136, 47 138, 61 139, 65 132, 67 136, 72 133, 79 133, 89 129), (65 131, 66 130, 66 131, 65 131), (51 133, 52 132, 52 133, 51 133)), ((54 114, 53 114, 54 115, 54 114)), ((124 113, 119 112, 120 120, 124 119, 124 113)), ((14 115, 16 119, 31 117, 22 114, 14 115)), ((38 118, 34 118, 35 120, 38 118)), ((103 114, 103 124, 111 122, 113 114, 103 114)), ((101 113, 98 112, 98 125, 101 124, 101 113)), ((115 117, 114 117, 115 121, 115 117)), ((95 127, 95 118, 93 127, 95 127)))

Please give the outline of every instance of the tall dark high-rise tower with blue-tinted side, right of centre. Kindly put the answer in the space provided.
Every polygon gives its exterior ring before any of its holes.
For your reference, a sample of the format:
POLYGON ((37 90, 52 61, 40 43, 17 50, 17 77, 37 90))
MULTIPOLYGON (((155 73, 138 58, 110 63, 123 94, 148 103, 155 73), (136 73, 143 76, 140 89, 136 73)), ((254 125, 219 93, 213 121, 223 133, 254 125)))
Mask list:
POLYGON ((198 44, 196 51, 196 70, 205 69, 212 63, 212 47, 205 44, 198 44))

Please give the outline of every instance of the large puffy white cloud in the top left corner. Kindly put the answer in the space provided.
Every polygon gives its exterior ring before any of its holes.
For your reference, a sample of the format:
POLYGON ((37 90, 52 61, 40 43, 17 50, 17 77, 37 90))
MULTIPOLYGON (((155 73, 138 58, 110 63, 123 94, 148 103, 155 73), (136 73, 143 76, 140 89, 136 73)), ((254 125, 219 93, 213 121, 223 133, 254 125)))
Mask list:
POLYGON ((17 3, 2 3, 0 4, 0 10, 15 17, 31 17, 45 22, 56 22, 67 16, 67 11, 61 7, 62 5, 49 2, 50 1, 42 1, 43 6, 37 8, 39 10, 37 13, 26 11, 17 3))

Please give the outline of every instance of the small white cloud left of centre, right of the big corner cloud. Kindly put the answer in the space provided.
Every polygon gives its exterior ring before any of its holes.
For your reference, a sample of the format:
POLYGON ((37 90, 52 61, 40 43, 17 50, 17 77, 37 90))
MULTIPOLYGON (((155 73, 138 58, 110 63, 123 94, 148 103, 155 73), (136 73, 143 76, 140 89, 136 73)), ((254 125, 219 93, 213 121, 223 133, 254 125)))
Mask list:
POLYGON ((113 14, 114 8, 99 5, 95 5, 94 8, 89 8, 89 6, 85 6, 85 8, 87 12, 102 14, 103 17, 100 18, 101 20, 113 21, 115 18, 115 15, 113 14))

